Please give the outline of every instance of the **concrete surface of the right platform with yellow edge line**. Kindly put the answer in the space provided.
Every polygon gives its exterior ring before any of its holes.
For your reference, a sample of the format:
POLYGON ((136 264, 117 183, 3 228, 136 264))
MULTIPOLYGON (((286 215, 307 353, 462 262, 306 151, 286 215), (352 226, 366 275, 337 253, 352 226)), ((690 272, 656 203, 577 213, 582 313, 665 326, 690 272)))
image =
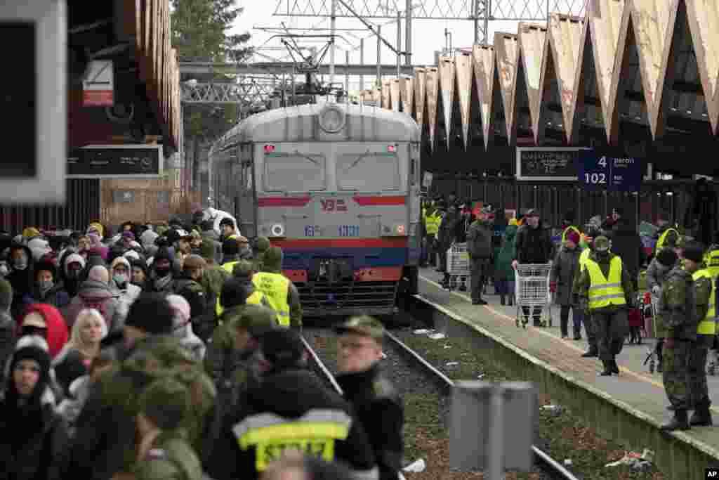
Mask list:
MULTIPOLYGON (((571 337, 569 340, 562 340, 559 332, 559 307, 556 305, 551 307, 552 327, 532 327, 530 321, 525 330, 516 327, 516 307, 500 305, 499 296, 493 294, 493 286, 487 287, 487 295, 484 297, 489 304, 477 306, 472 305, 469 292, 443 289, 439 284, 441 278, 442 274, 434 271, 434 268, 421 268, 419 294, 429 302, 439 304, 465 320, 475 322, 567 375, 574 376, 613 399, 643 412, 656 422, 662 422, 671 416, 666 409, 669 401, 664 393, 661 373, 651 374, 647 366, 643 365, 647 350, 654 345, 653 339, 644 339, 644 345, 625 344, 617 357, 620 375, 598 376, 602 370, 600 361, 597 358, 581 357, 587 350, 583 329, 582 340, 572 340, 571 337)), ((571 332, 571 314, 569 325, 571 332)), ((708 384, 713 402, 712 413, 715 424, 719 425, 719 376, 709 376, 708 384)), ((712 445, 713 448, 719 445, 719 427, 694 427, 679 435, 688 435, 700 443, 712 445)))

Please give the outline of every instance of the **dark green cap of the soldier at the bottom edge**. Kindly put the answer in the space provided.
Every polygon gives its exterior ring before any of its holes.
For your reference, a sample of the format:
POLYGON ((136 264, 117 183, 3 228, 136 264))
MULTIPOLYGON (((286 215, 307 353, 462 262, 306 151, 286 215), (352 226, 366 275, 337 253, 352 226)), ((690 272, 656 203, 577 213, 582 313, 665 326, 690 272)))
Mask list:
POLYGON ((190 413, 190 393, 175 379, 155 380, 142 393, 139 412, 160 430, 174 430, 190 413))

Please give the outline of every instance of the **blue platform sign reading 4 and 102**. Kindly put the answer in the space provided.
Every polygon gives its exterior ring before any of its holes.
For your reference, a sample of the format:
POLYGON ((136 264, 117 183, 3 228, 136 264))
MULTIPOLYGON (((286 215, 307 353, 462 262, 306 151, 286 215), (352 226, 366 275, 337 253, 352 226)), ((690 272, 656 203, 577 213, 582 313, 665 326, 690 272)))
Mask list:
POLYGON ((585 190, 639 191, 644 176, 642 166, 638 158, 588 150, 582 154, 579 181, 585 190))

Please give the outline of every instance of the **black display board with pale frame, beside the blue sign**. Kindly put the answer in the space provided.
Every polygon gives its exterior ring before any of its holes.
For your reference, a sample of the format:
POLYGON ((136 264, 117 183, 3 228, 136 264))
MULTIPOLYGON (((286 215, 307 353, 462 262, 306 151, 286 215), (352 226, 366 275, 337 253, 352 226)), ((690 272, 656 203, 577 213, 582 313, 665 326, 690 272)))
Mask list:
POLYGON ((516 178, 521 181, 577 181, 580 154, 587 148, 517 148, 516 178))

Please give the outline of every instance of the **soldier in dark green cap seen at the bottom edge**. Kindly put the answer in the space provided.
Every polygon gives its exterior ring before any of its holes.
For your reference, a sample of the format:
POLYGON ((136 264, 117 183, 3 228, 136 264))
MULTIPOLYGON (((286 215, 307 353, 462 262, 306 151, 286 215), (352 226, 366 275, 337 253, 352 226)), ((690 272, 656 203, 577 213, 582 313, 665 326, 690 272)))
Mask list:
POLYGON ((201 480, 202 466, 188 443, 183 422, 191 412, 191 394, 178 381, 154 381, 139 399, 139 461, 136 480, 201 480))

